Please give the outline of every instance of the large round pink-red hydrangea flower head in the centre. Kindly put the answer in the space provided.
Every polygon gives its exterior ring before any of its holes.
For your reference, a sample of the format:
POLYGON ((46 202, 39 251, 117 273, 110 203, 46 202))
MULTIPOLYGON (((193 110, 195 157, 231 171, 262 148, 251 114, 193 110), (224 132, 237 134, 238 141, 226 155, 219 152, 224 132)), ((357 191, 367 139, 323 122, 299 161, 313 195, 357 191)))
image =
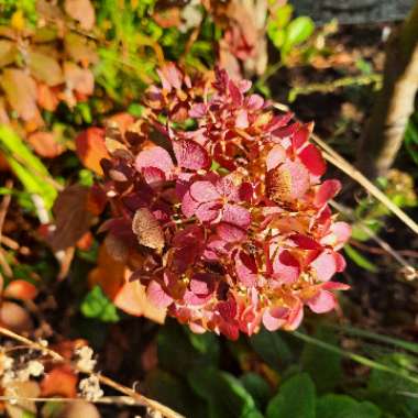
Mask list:
POLYGON ((332 310, 350 227, 328 206, 340 183, 321 182, 312 125, 224 70, 160 75, 143 117, 110 129, 101 162, 113 210, 102 230, 129 248, 132 279, 193 331, 231 339, 295 329, 305 306, 332 310))

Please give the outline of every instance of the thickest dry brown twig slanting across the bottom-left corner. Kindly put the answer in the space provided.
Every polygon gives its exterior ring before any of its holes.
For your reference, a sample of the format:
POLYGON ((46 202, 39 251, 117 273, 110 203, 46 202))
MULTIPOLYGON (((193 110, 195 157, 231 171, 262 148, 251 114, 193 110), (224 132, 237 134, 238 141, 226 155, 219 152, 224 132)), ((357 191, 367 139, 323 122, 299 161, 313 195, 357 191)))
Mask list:
MULTIPOLYGON (((8 338, 11 338, 15 341, 22 342, 22 343, 26 344, 30 349, 41 351, 42 353, 50 355, 52 358, 52 360, 54 360, 54 361, 57 361, 61 363, 68 362, 63 355, 61 355, 56 351, 54 351, 47 346, 44 346, 43 344, 41 344, 38 342, 32 341, 32 340, 30 340, 23 336, 20 336, 20 334, 15 333, 15 332, 13 332, 13 331, 4 328, 4 327, 1 327, 1 326, 0 326, 0 334, 8 337, 8 338)), ((138 402, 139 405, 143 405, 145 407, 157 410, 158 413, 161 413, 166 418, 184 418, 183 415, 177 414, 176 411, 166 407, 165 405, 162 405, 156 400, 150 399, 150 398, 145 397, 144 395, 141 395, 138 392, 131 389, 130 387, 123 386, 120 383, 114 382, 110 377, 107 377, 107 376, 99 374, 99 373, 91 372, 89 370, 85 370, 78 365, 73 364, 73 367, 75 370, 77 370, 79 373, 84 373, 84 374, 97 377, 101 384, 103 384, 108 387, 111 387, 111 388, 118 391, 119 393, 121 393, 123 395, 131 397, 132 399, 138 402)))

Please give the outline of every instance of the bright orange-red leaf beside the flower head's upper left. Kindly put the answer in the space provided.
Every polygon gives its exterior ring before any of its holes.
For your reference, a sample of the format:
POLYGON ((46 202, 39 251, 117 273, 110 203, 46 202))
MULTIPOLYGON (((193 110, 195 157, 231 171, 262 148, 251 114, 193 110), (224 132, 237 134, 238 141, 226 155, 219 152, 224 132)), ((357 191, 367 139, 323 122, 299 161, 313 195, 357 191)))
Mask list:
POLYGON ((92 172, 102 175, 100 166, 102 158, 109 158, 105 144, 105 130, 89 128, 76 138, 76 151, 81 163, 92 172))

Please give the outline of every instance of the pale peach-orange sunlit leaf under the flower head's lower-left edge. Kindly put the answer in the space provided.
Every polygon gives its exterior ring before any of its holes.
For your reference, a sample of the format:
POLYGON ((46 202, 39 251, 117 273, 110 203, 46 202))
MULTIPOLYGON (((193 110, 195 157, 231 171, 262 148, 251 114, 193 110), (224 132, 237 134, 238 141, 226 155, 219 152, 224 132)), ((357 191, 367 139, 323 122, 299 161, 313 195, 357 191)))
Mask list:
POLYGON ((114 305, 129 315, 143 316, 157 323, 164 323, 166 309, 151 304, 146 297, 145 287, 139 280, 129 282, 130 276, 131 272, 127 268, 127 282, 116 296, 114 305))

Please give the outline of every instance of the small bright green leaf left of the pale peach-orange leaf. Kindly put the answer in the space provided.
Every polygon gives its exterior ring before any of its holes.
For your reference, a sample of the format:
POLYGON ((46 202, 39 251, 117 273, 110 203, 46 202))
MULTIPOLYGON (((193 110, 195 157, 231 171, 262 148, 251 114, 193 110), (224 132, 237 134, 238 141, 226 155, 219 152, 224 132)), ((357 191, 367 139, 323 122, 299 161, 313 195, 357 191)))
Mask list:
POLYGON ((85 297, 80 306, 81 314, 87 318, 96 318, 103 322, 118 322, 116 306, 103 294, 100 286, 95 286, 85 297))

